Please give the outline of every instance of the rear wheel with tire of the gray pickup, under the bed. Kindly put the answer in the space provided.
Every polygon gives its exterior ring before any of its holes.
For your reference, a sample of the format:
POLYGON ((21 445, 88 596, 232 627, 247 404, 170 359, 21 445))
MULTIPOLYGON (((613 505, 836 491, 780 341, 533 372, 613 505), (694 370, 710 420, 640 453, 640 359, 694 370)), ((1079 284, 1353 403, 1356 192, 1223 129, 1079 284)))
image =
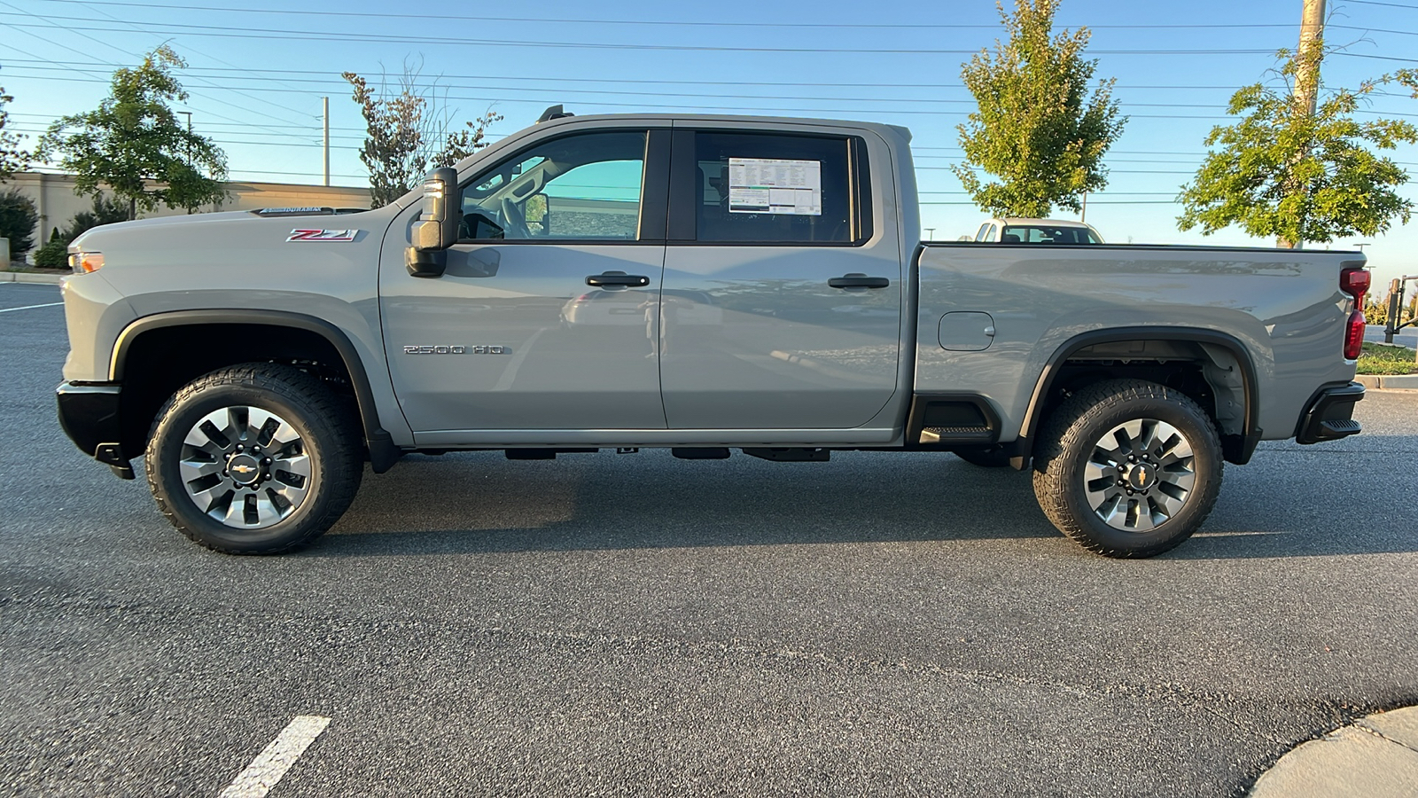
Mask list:
POLYGON ((1153 557, 1201 527, 1221 471, 1217 427, 1191 398, 1115 379, 1079 390, 1048 419, 1034 496, 1089 551, 1153 557))

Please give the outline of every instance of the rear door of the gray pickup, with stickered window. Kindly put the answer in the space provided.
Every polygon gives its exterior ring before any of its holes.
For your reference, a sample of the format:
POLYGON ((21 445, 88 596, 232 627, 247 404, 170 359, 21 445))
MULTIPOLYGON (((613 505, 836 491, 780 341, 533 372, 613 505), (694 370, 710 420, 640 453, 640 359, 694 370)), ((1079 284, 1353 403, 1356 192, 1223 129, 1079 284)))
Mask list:
POLYGON ((669 429, 866 425, 900 358, 896 220, 872 207, 889 160, 871 169, 855 131, 678 125, 659 328, 669 429))

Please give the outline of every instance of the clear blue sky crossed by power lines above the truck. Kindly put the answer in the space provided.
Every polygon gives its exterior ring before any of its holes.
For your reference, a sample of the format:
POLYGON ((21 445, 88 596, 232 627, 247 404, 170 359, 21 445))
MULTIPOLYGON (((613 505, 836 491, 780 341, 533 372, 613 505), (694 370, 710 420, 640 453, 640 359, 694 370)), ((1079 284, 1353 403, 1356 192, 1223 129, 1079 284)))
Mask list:
MULTIPOLYGON (((1107 156, 1107 190, 1089 200, 1088 220, 1107 240, 1271 243, 1239 230, 1208 239, 1178 233, 1171 200, 1201 160, 1202 136, 1225 121, 1235 88, 1266 78, 1273 51, 1295 47, 1299 17, 1300 0, 1062 1, 1059 24, 1093 30, 1098 75, 1117 78, 1116 97, 1130 116, 1107 156)), ((925 227, 949 240, 983 217, 949 166, 960 158, 956 125, 973 108, 960 65, 1000 34, 994 4, 984 0, 0 0, 0 28, 11 125, 31 133, 57 115, 95 106, 116 65, 170 43, 190 62, 184 109, 225 149, 235 179, 319 182, 320 97, 329 95, 333 182, 363 185, 354 152, 362 119, 339 72, 397 75, 410 60, 421 61, 425 82, 442 87, 457 119, 489 106, 503 114, 495 135, 556 102, 579 114, 763 112, 906 125, 915 132, 925 227), (440 13, 461 18, 432 16, 440 13)), ((1324 62, 1327 85, 1418 67, 1418 0, 1330 0, 1327 38, 1347 44, 1324 62)), ((1418 122, 1418 99, 1391 91, 1364 116, 1418 122)), ((1418 177, 1418 148, 1391 158, 1418 177)), ((1418 200, 1414 183, 1404 193, 1418 200)), ((1367 251, 1380 280, 1418 274, 1418 219, 1367 251)))

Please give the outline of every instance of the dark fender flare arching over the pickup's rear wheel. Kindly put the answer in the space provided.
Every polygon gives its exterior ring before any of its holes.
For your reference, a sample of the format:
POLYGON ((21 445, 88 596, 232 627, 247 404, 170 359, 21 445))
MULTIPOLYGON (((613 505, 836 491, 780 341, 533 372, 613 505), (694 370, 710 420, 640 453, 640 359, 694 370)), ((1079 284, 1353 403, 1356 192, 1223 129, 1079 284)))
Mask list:
POLYGON ((1039 372, 1039 378, 1034 385, 1034 393, 1029 396, 1029 405, 1020 427, 1020 437, 1012 446, 1015 460, 1011 461, 1011 464, 1017 469, 1022 469, 1025 463, 1028 463, 1029 456, 1034 452, 1035 434, 1044 416, 1045 400, 1049 390, 1054 388, 1064 364, 1081 349, 1088 346, 1123 341, 1184 341, 1217 346, 1229 354, 1235 362, 1239 364, 1241 369, 1244 400, 1242 434, 1222 434, 1222 444, 1227 461, 1244 466, 1251 460, 1251 454, 1255 452, 1255 446, 1261 442, 1262 434, 1259 427, 1259 378, 1256 375, 1255 359, 1251 356, 1251 351, 1239 338, 1217 329, 1193 327, 1115 327, 1075 335, 1061 344, 1054 354, 1049 355, 1049 359, 1044 364, 1044 369, 1039 372))

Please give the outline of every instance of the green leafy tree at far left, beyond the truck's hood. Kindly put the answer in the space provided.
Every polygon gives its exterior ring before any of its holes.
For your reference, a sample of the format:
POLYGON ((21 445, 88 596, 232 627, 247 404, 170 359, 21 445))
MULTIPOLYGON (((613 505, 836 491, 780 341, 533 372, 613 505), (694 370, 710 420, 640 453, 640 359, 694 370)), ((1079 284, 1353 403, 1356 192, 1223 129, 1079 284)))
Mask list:
POLYGON ((98 109, 64 116, 40 138, 35 158, 58 156, 74 172, 74 190, 98 196, 104 186, 128 200, 128 217, 153 210, 196 209, 221 202, 227 158, 206 136, 189 132, 167 105, 187 92, 173 70, 187 64, 163 44, 140 67, 113 72, 98 109))

